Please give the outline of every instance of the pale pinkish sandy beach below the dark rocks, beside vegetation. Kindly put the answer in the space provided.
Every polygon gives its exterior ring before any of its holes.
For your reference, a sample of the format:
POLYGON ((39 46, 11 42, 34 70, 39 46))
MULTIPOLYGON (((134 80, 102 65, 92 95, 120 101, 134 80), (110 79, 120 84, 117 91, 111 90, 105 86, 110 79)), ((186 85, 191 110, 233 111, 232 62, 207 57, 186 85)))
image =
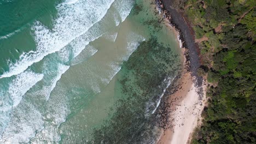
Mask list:
MULTIPOLYGON (((182 49, 184 52, 184 49, 182 49)), ((194 77, 184 69, 178 80, 178 90, 169 95, 171 104, 171 125, 169 129, 162 130, 158 143, 189 143, 190 135, 195 127, 200 124, 201 112, 205 105, 205 87, 203 98, 198 93, 199 88, 193 82, 194 77)))

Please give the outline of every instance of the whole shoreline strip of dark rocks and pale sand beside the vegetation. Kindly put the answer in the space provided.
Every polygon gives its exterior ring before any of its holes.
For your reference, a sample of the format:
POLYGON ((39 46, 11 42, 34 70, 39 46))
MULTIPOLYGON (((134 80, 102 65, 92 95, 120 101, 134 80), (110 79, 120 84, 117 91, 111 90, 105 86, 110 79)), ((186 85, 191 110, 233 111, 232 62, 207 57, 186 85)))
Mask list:
MULTIPOLYGON (((190 143, 191 134, 193 134, 196 126, 201 123, 201 112, 206 102, 206 85, 203 78, 197 75, 197 69, 200 67, 201 61, 194 34, 183 16, 177 20, 177 17, 181 14, 177 15, 179 12, 172 9, 170 4, 168 1, 156 1, 161 15, 176 35, 181 49, 183 68, 176 84, 174 84, 176 88, 172 94, 167 95, 168 99, 166 101, 170 104, 170 107, 168 107, 170 125, 167 129, 161 129, 162 134, 157 142, 159 144, 190 143), (168 6, 169 9, 167 9, 168 6), (173 11, 175 13, 172 13, 173 11), (180 24, 181 20, 185 23, 180 24)), ((171 89, 171 87, 173 85, 169 88, 171 89)))

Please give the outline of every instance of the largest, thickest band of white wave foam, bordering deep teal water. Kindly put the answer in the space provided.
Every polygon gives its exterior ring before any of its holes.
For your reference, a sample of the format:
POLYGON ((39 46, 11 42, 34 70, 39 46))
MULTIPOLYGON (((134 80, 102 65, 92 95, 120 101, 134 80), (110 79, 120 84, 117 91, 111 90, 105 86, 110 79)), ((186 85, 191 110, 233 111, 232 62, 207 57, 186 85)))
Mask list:
POLYGON ((33 26, 36 51, 24 52, 16 63, 9 63, 9 71, 2 77, 22 73, 33 63, 41 61, 46 55, 61 50, 72 40, 84 34, 107 13, 111 1, 79 1, 73 4, 57 5, 58 18, 50 30, 40 22, 33 26))

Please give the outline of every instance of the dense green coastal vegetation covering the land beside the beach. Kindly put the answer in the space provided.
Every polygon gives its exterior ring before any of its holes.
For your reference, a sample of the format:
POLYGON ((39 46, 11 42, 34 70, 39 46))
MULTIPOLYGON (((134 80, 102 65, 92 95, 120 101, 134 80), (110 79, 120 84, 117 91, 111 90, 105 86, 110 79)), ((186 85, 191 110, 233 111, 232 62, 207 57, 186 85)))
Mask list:
POLYGON ((207 105, 192 143, 256 142, 256 3, 206 0, 179 3, 201 52, 207 105))

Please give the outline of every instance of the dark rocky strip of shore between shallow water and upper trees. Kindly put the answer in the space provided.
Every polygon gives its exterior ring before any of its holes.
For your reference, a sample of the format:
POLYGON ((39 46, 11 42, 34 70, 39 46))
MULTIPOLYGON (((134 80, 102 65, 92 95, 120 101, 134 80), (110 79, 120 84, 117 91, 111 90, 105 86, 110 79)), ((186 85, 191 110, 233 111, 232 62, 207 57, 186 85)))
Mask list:
MULTIPOLYGON (((197 69, 201 65, 200 50, 195 43, 195 37, 193 29, 191 28, 189 22, 185 20, 182 13, 176 9, 171 8, 172 2, 168 0, 155 0, 158 9, 160 9, 162 16, 171 28, 179 35, 179 39, 182 41, 182 47, 187 49, 188 53, 185 54, 186 61, 189 63, 189 70, 193 76, 196 76, 198 81, 202 81, 202 78, 197 75, 197 69)), ((201 85, 201 83, 197 83, 201 85)))

